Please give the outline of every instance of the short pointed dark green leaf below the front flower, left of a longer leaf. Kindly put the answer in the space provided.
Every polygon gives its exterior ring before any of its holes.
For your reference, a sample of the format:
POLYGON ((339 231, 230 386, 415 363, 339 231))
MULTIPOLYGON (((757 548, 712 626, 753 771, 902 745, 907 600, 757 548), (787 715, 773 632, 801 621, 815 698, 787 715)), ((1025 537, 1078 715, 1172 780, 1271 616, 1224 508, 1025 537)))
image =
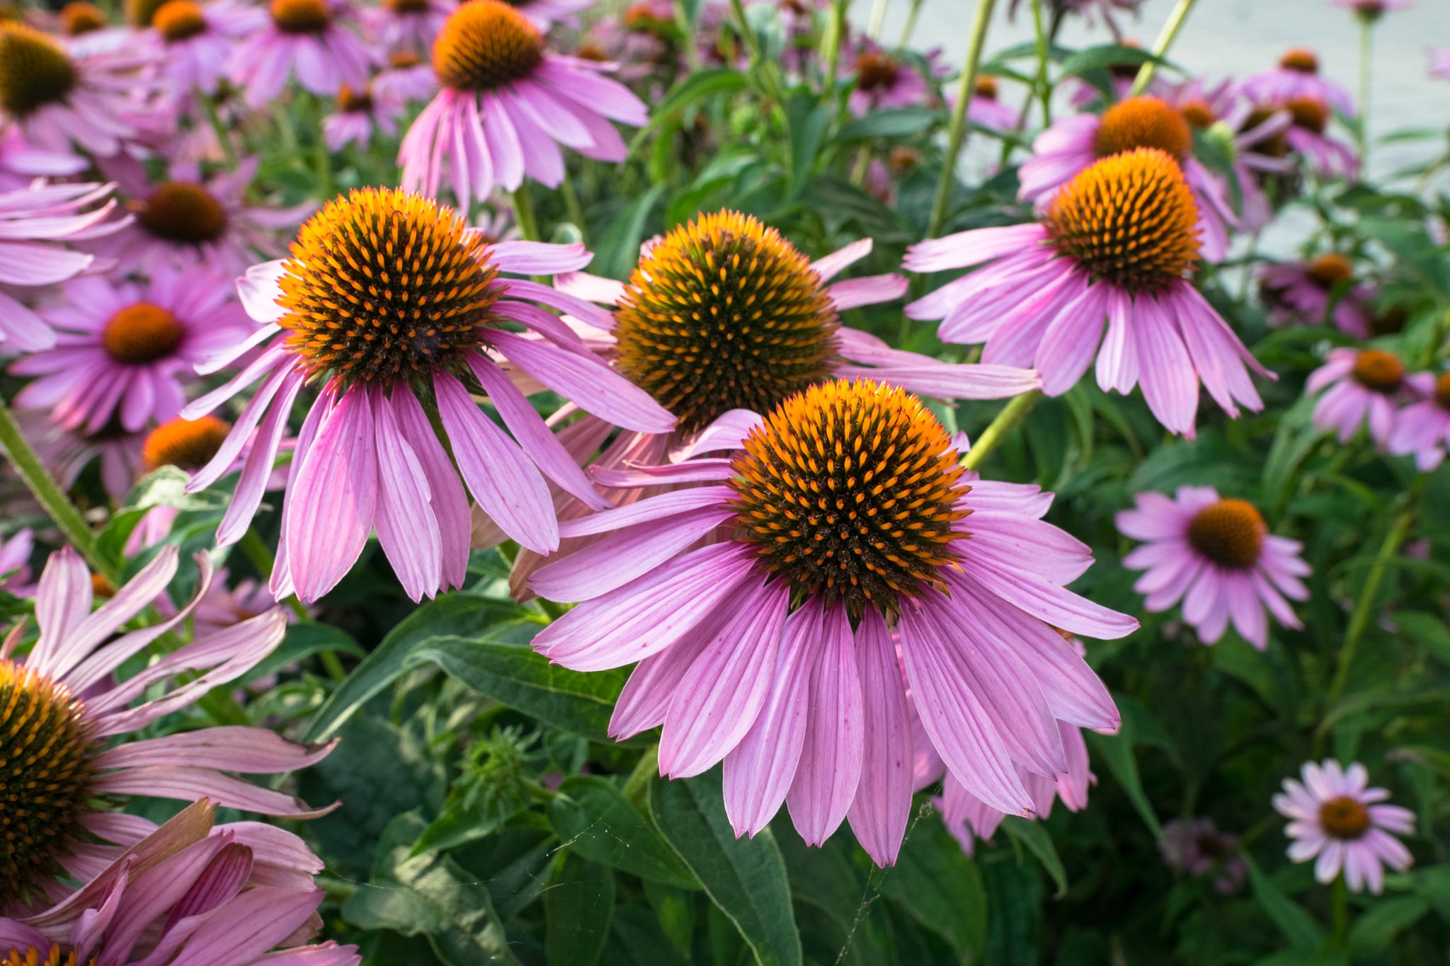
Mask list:
POLYGON ((564 781, 548 807, 560 841, 573 852, 624 872, 682 889, 700 888, 658 831, 606 778, 564 781))

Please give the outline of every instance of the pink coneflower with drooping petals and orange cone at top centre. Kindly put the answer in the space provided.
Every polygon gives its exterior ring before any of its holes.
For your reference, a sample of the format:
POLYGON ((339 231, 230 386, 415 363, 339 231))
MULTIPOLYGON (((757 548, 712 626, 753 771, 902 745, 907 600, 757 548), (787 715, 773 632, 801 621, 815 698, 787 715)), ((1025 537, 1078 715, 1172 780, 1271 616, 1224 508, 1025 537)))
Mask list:
POLYGON ((434 45, 442 90, 418 116, 397 161, 403 187, 436 196, 445 172, 460 207, 528 175, 548 187, 564 180, 560 145, 586 158, 624 161, 610 120, 639 126, 644 103, 608 65, 550 54, 529 20, 499 0, 458 7, 434 45))

